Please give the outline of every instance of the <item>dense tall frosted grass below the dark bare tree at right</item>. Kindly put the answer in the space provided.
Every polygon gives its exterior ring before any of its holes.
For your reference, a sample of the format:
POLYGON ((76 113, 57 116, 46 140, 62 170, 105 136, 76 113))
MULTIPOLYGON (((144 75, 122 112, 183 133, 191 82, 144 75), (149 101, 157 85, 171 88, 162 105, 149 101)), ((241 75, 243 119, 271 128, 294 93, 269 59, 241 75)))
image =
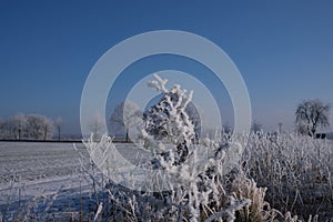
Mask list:
POLYGON ((294 133, 249 138, 243 170, 260 186, 266 201, 282 213, 299 219, 332 216, 333 144, 294 133))

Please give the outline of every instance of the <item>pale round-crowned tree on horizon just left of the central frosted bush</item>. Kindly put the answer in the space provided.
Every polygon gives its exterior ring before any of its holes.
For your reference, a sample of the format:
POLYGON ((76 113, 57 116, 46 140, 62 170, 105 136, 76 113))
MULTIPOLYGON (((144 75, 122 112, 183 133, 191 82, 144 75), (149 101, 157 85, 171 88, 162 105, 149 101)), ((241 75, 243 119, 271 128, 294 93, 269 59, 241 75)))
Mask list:
POLYGON ((129 133, 130 129, 138 123, 139 119, 141 119, 141 111, 132 101, 125 100, 114 109, 110 123, 111 127, 118 127, 125 130, 125 140, 130 141, 129 133))

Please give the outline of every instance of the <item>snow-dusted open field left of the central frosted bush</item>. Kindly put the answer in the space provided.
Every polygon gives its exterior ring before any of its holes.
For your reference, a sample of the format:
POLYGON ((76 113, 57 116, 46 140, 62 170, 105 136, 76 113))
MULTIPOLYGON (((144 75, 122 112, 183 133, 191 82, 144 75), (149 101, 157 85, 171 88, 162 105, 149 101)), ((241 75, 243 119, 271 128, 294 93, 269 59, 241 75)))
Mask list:
MULTIPOLYGON (((75 147, 77 150, 71 143, 0 142, 0 221, 1 214, 13 219, 21 212, 78 212, 80 198, 93 199, 92 179, 87 173, 87 169, 92 172, 89 154, 82 143, 75 147)), ((117 148, 127 151, 133 145, 120 143, 117 148)), ((128 151, 122 153, 133 157, 128 151)), ((93 202, 82 202, 84 208, 91 208, 89 212, 94 211, 93 202)))

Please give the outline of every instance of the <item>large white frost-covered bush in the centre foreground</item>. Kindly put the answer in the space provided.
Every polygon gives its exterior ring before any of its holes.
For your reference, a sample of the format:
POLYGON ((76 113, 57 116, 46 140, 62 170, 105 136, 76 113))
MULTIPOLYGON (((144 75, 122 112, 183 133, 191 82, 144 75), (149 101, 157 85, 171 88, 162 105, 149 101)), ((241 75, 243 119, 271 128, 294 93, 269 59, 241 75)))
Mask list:
MULTIPOLYGON (((144 113, 142 137, 153 159, 142 167, 162 170, 168 189, 157 183, 145 186, 144 191, 134 191, 110 183, 111 218, 127 221, 235 220, 235 212, 249 206, 251 200, 232 194, 228 188, 232 176, 226 175, 224 167, 242 149, 222 140, 205 139, 200 144, 194 143, 194 125, 185 112, 193 92, 186 94, 180 85, 169 90, 165 84, 167 80, 158 75, 155 81, 149 82, 162 93, 162 99, 144 113)), ((100 143, 90 141, 87 145, 93 157, 99 157, 98 165, 108 165, 108 157, 112 155, 109 152, 114 151, 112 140, 104 138, 100 143)))

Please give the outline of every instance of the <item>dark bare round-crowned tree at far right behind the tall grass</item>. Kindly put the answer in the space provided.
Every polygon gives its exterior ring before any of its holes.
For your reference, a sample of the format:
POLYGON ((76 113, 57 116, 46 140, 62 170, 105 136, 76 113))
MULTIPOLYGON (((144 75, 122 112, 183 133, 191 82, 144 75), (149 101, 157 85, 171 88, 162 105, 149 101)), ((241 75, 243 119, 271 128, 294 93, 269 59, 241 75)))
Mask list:
POLYGON ((305 100, 297 105, 295 115, 300 133, 307 133, 313 137, 319 127, 327 127, 330 104, 325 104, 319 99, 305 100))

